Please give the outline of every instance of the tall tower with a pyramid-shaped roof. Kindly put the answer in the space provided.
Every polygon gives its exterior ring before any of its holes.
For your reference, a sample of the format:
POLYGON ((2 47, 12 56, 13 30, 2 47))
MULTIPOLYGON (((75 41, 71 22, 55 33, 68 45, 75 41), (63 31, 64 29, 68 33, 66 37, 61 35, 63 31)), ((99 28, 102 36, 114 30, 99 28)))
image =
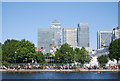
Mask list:
POLYGON ((55 48, 59 48, 61 46, 61 24, 59 21, 54 20, 51 23, 50 29, 54 32, 54 37, 53 37, 53 44, 55 48))

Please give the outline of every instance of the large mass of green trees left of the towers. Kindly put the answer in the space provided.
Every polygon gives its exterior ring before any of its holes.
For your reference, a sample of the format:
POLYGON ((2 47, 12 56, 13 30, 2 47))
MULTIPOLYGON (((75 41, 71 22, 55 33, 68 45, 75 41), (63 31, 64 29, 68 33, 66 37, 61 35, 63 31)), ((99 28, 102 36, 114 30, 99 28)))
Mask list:
MULTIPOLYGON (((1 44, 0 44, 1 46, 1 44)), ((28 40, 6 40, 2 45, 3 64, 45 62, 42 52, 35 52, 35 45, 28 40)))

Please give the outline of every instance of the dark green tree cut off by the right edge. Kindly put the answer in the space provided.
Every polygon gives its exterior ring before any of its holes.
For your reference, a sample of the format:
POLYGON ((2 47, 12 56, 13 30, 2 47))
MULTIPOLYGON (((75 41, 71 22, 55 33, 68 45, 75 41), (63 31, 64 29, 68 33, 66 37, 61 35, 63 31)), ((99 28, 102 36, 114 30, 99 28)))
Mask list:
POLYGON ((116 39, 110 43, 109 58, 111 60, 116 59, 117 63, 120 60, 120 39, 116 39))

